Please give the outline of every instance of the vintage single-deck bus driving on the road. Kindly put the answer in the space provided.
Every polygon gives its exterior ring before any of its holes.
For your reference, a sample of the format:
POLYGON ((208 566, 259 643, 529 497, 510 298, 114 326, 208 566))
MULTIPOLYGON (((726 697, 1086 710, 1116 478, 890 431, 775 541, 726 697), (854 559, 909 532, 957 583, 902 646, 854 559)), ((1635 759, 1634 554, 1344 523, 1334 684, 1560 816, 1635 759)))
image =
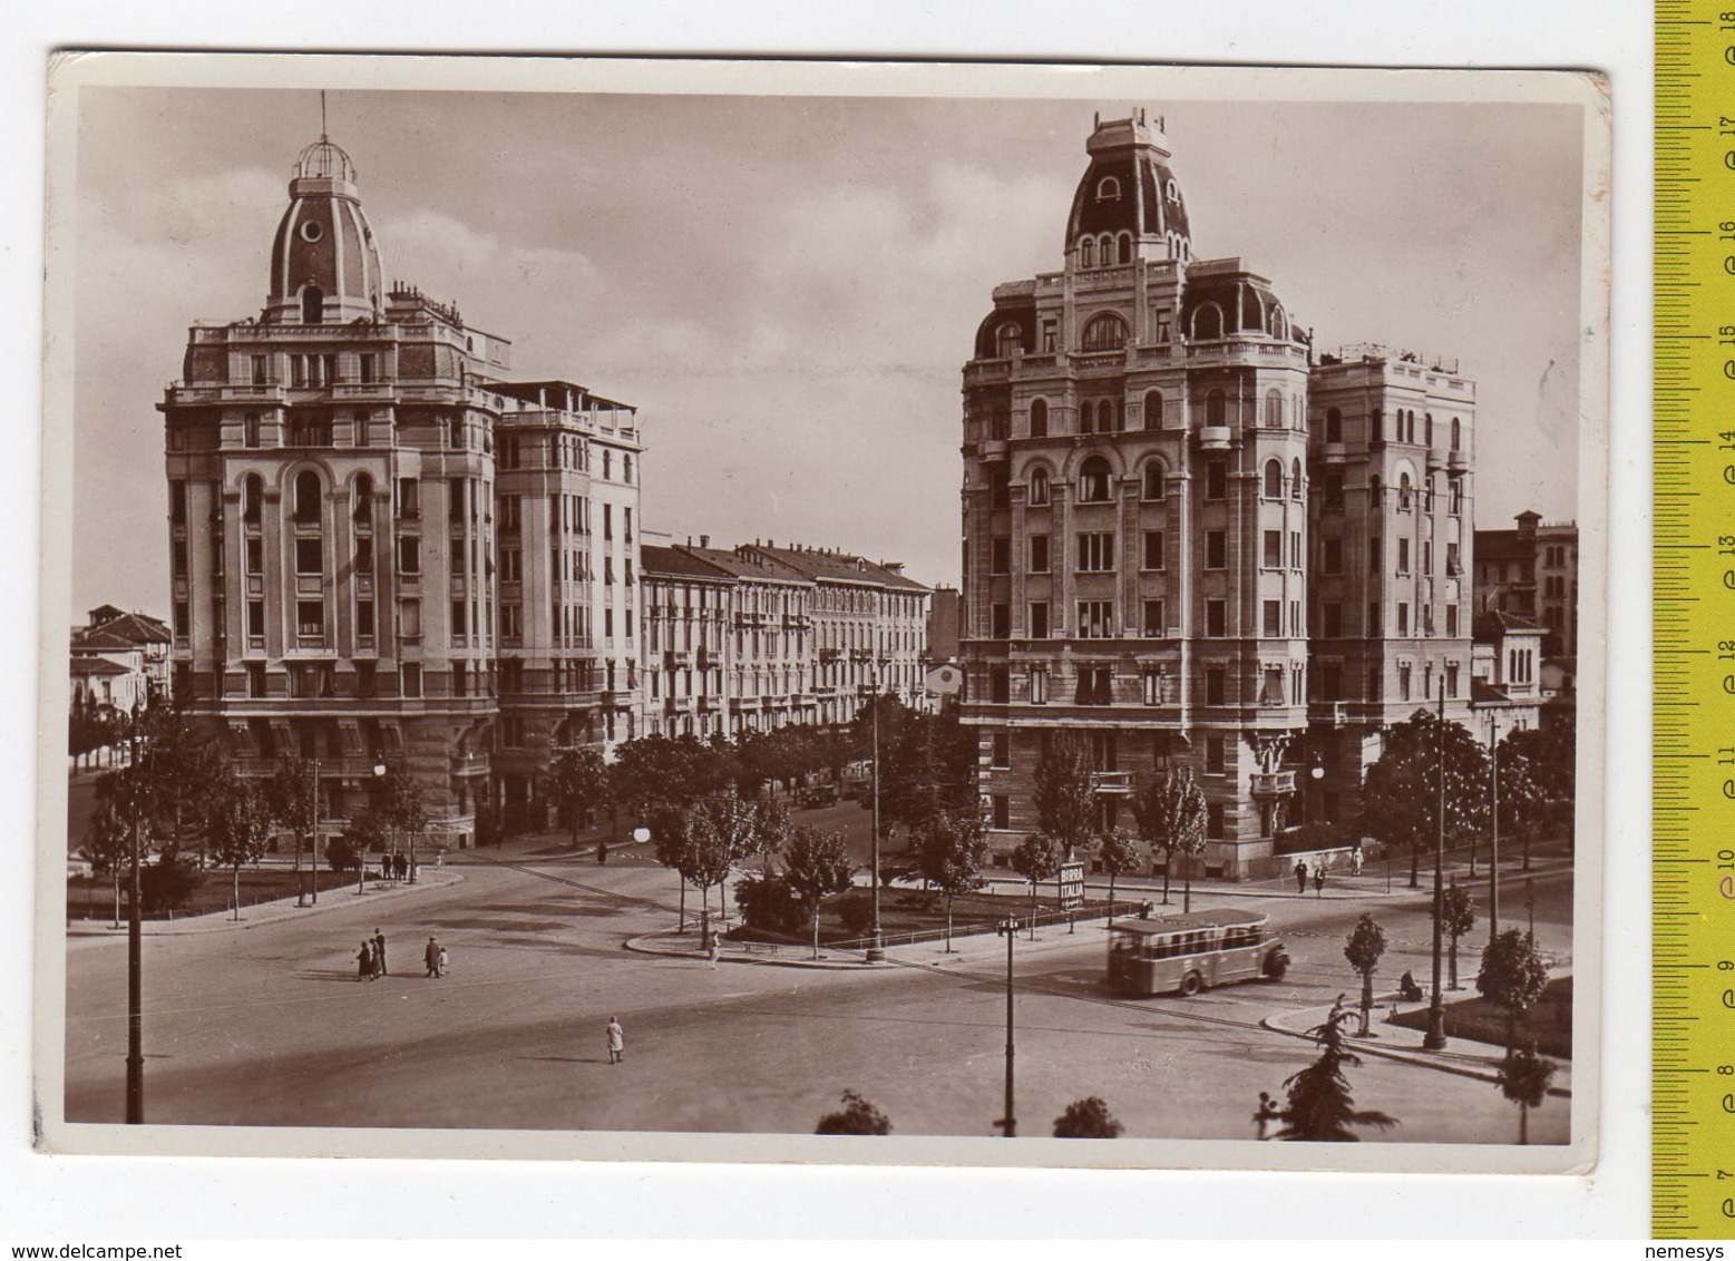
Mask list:
POLYGON ((1109 930, 1109 983, 1123 994, 1197 994, 1206 985, 1277 980, 1284 944, 1258 911, 1199 911, 1166 919, 1117 919, 1109 930))

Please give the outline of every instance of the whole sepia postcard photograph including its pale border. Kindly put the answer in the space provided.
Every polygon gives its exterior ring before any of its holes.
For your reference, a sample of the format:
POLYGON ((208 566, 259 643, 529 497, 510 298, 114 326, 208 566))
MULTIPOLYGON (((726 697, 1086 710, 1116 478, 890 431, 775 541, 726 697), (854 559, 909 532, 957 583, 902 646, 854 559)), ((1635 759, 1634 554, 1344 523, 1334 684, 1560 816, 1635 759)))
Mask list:
POLYGON ((54 68, 49 1150, 1594 1162, 1605 85, 1086 69, 54 68))

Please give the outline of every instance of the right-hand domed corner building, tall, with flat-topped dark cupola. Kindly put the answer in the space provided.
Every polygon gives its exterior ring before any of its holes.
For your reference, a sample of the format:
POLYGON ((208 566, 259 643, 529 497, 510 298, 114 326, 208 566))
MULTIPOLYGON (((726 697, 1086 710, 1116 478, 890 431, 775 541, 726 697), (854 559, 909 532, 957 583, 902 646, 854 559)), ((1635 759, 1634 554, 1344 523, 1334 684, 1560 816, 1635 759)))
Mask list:
MULTIPOLYGON (((1381 729, 1471 725, 1475 385, 1315 354, 1272 283, 1197 258, 1162 120, 1097 120, 1064 267, 994 290, 965 364, 965 722, 998 853, 1038 829, 1046 741, 1083 732, 1103 829, 1192 768, 1202 872, 1353 836, 1381 729)), ((1471 725, 1475 730, 1475 727, 1471 725)))

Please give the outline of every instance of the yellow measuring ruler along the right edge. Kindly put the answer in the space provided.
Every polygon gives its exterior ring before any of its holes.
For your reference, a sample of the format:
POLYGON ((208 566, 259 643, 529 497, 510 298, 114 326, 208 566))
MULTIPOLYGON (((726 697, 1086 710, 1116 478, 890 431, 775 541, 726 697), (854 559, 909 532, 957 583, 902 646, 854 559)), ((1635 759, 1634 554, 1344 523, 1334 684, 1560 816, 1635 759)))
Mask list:
POLYGON ((1735 1235, 1735 0, 1659 3, 1652 1233, 1735 1235))

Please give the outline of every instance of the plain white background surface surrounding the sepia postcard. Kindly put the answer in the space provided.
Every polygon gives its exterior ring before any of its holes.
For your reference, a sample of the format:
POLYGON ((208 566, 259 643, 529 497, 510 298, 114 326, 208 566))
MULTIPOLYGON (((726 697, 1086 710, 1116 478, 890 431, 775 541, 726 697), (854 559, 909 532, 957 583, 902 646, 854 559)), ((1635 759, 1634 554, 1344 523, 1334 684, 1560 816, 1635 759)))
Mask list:
MULTIPOLYGON (((1624 1237, 1648 1235, 1650 9, 1622 0, 1393 5, 557 3, 12 12, 0 49, 0 793, 33 810, 42 345, 42 101, 56 47, 666 52, 1600 69, 1615 102, 1612 614, 1601 1157, 1589 1178, 1397 1178, 536 1162, 121 1160, 29 1150, 29 885, 0 879, 0 1240, 392 1237, 1624 1237)), ((50 336, 54 330, 49 330, 50 336)), ((149 401, 141 401, 149 406, 149 401)), ((1594 791, 1586 784, 1586 791, 1594 791)), ((1591 931, 1581 925, 1581 931, 1591 931)), ((1424 1086, 1424 1084, 1423 1084, 1424 1086)), ((361 1245, 342 1256, 368 1254, 361 1245)), ((423 1256, 425 1252, 418 1252, 423 1256)), ((455 1247, 432 1256, 456 1256, 455 1247)))

